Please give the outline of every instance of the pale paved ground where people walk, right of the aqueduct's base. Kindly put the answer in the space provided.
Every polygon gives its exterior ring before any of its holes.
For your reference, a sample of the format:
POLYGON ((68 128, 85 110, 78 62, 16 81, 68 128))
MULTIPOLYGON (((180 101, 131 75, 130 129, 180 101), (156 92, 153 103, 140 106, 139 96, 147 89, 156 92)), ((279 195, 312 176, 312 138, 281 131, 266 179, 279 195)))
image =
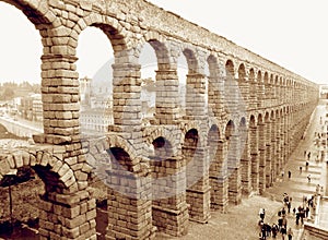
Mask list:
MULTIPOLYGON (((323 132, 326 118, 326 103, 319 105, 311 120, 311 124, 306 130, 304 140, 300 140, 300 144, 295 152, 290 157, 288 164, 284 167, 284 177, 280 177, 278 181, 267 190, 266 194, 262 196, 254 195, 249 199, 244 199, 242 204, 238 206, 231 206, 227 214, 220 214, 218 212, 211 213, 211 219, 206 225, 200 225, 196 223, 190 223, 189 232, 187 236, 181 238, 172 238, 167 236, 159 236, 156 239, 181 239, 181 240, 247 240, 247 239, 258 239, 259 227, 258 223, 258 211, 260 207, 266 208, 267 217, 265 221, 277 223, 278 211, 283 206, 282 199, 283 193, 288 193, 292 196, 292 208, 297 207, 303 202, 303 196, 311 196, 316 191, 316 185, 324 185, 324 191, 328 195, 328 190, 326 188, 327 178, 327 164, 326 161, 319 160, 320 155, 318 154, 323 146, 316 146, 315 132, 323 132), (320 122, 321 117, 321 122, 320 122), (309 166, 306 169, 305 163, 306 157, 304 156, 304 151, 311 152, 309 166), (318 154, 318 160, 316 156, 318 154), (300 172, 300 166, 303 170, 300 172), (292 172, 291 179, 288 178, 288 171, 292 172), (311 182, 307 180, 307 176, 311 175, 311 182)), ((328 219, 328 201, 327 205, 321 208, 319 215, 320 219, 328 219)), ((309 220, 314 219, 314 214, 311 213, 309 220)), ((293 240, 301 240, 303 233, 303 227, 296 226, 295 216, 291 213, 288 214, 288 228, 293 229, 293 240)), ((271 239, 271 238, 267 238, 271 239)), ((277 239, 282 239, 279 235, 277 239)), ((286 238, 285 238, 286 239, 286 238)), ((317 238, 303 236, 302 240, 317 240, 317 238)))

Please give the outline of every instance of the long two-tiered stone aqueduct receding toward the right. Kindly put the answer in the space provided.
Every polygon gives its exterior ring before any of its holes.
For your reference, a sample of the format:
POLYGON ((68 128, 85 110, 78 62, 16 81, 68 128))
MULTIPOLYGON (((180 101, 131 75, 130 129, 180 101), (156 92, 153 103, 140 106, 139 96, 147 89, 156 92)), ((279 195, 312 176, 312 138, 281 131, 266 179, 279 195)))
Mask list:
POLYGON ((44 134, 30 148, 0 152, 0 178, 31 166, 45 182, 42 239, 96 239, 87 179, 93 163, 107 158, 107 239, 186 233, 189 220, 208 221, 210 208, 224 212, 243 194, 270 188, 318 100, 316 84, 147 1, 4 2, 35 25, 44 49, 44 134), (115 55, 114 125, 94 141, 80 134, 75 69, 79 35, 89 26, 107 35, 115 55), (150 124, 140 115, 144 43, 157 57, 150 124), (183 116, 180 55, 189 69, 183 116))

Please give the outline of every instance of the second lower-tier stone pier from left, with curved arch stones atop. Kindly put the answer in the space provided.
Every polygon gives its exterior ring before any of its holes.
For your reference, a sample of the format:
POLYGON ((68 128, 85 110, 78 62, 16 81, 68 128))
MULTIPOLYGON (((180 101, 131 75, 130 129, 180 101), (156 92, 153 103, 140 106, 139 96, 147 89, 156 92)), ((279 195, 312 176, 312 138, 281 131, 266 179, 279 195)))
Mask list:
POLYGON ((110 157, 110 168, 106 170, 108 226, 106 238, 120 238, 126 235, 153 238, 151 165, 140 156, 131 155, 132 147, 120 136, 107 139, 104 148, 110 157), (112 141, 110 141, 112 140, 112 141), (137 158, 137 159, 136 159, 137 158), (142 201, 141 201, 142 200, 142 201), (122 211, 127 209, 129 211, 122 211), (131 215, 130 213, 134 213, 131 215), (128 223, 144 221, 131 229, 120 225, 117 216, 128 223), (122 233, 125 232, 125 233, 122 233))

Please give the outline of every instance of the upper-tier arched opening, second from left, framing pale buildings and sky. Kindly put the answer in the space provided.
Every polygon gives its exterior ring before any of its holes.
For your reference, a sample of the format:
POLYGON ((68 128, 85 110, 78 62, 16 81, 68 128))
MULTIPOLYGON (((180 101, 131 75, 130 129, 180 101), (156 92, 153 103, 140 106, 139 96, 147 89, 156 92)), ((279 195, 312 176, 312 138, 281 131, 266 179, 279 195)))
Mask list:
MULTIPOLYGON (((103 27, 104 28, 104 27, 103 27)), ((80 127, 84 137, 108 132, 113 119, 114 53, 102 27, 91 26, 79 36, 77 71, 80 83, 80 127)))

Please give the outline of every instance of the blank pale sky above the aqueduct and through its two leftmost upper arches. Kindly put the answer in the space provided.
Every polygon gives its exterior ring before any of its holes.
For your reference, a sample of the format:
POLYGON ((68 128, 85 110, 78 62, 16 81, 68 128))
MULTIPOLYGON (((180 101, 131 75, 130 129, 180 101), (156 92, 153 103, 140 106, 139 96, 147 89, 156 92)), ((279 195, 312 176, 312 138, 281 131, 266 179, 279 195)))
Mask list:
MULTIPOLYGON (((309 81, 328 84, 327 0, 149 1, 309 81)), ((0 2, 0 83, 39 83, 42 44, 34 25, 0 2)), ((101 31, 87 28, 79 39, 78 57, 80 76, 93 75, 113 57, 110 43, 101 31)))

